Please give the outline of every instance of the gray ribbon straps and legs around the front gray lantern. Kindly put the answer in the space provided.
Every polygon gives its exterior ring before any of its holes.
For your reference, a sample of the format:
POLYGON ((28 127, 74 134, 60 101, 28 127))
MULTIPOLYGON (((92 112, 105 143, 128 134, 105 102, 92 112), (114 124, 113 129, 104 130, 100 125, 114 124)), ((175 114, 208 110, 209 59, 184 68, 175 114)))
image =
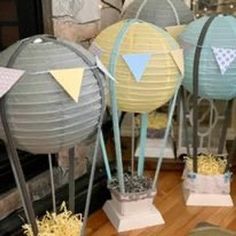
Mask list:
MULTIPOLYGON (((55 40, 55 37, 49 36, 49 35, 42 35, 40 36, 43 40, 47 42, 54 42, 58 43, 55 40)), ((22 41, 21 44, 19 44, 16 51, 11 55, 10 59, 8 60, 6 67, 11 67, 14 64, 14 61, 16 60, 19 53, 24 49, 25 45, 28 42, 33 42, 35 39, 39 38, 39 36, 33 36, 31 38, 27 38, 22 41)), ((101 115, 98 121, 97 126, 97 134, 96 134, 96 142, 95 142, 95 148, 93 153, 93 160, 92 160, 92 167, 91 167, 91 173, 90 173, 90 179, 89 179, 89 185, 88 185, 88 194, 86 199, 86 206, 85 206, 85 212, 84 212, 84 224, 82 229, 82 235, 85 233, 85 226, 87 223, 87 217, 89 213, 89 207, 90 207, 90 201, 91 201, 91 194, 92 194, 92 186, 93 186, 93 180, 94 180, 94 174, 96 169, 96 160, 97 160, 97 153, 98 153, 98 147, 99 145, 104 145, 103 135, 101 131, 102 121, 103 121, 103 115, 105 112, 105 90, 104 90, 104 83, 101 78, 100 71, 94 64, 89 60, 89 58, 81 53, 78 50, 75 50, 72 46, 63 43, 60 41, 60 44, 68 48, 69 50, 73 51, 77 56, 82 58, 84 62, 91 67, 91 71, 97 81, 97 84, 100 88, 99 93, 101 95, 101 115)), ((30 199, 30 195, 27 189, 26 181, 24 178, 24 174, 22 171, 22 167, 19 161, 19 156, 16 150, 16 145, 14 142, 14 138, 11 134, 10 127, 7 120, 7 114, 5 110, 5 104, 6 104, 6 96, 3 96, 0 99, 0 117, 3 124, 3 130, 6 135, 6 148, 8 157, 10 160, 11 168, 14 174, 14 178, 17 184, 18 191, 20 193, 22 205, 24 208, 25 216, 27 219, 27 222, 31 225, 33 234, 36 236, 38 233, 38 228, 36 224, 36 218, 35 213, 33 210, 33 204, 30 199)), ((55 200, 55 188, 54 188, 54 181, 53 181, 53 172, 52 172, 52 165, 51 165, 51 154, 49 154, 49 167, 50 167, 50 178, 51 178, 51 185, 52 185, 52 198, 53 198, 53 210, 56 211, 56 200, 55 200)), ((109 172, 110 170, 108 170, 109 172)), ((74 194, 75 194, 75 182, 74 182, 74 148, 69 149, 69 208, 72 212, 74 212, 75 208, 75 202, 74 202, 74 194)))

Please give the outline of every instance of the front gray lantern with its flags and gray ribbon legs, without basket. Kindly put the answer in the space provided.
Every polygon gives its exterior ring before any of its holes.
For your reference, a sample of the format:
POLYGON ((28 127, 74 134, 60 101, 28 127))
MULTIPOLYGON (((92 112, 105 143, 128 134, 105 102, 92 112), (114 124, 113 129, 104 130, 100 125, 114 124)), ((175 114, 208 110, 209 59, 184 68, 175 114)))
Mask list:
POLYGON ((38 35, 1 52, 0 66, 0 137, 6 141, 26 219, 34 235, 38 232, 37 224, 16 148, 49 155, 55 212, 51 153, 70 148, 69 205, 73 212, 73 147, 96 135, 84 217, 86 225, 105 110, 101 63, 79 45, 38 35))

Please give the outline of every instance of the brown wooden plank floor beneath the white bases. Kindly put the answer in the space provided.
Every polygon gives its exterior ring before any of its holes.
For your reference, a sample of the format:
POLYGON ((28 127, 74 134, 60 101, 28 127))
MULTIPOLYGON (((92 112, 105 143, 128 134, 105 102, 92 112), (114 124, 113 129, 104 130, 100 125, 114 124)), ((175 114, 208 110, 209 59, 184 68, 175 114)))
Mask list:
MULTIPOLYGON (((117 233, 102 210, 89 217, 88 236, 185 236, 199 222, 209 222, 236 231, 236 207, 186 207, 181 191, 181 172, 165 171, 160 175, 155 205, 166 224, 142 230, 117 233)), ((232 184, 236 204, 236 181, 232 184)))

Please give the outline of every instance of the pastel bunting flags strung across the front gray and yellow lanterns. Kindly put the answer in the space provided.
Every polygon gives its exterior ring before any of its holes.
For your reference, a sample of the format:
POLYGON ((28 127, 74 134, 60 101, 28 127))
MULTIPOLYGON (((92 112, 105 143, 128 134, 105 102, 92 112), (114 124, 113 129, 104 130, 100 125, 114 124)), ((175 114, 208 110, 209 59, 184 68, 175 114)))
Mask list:
MULTIPOLYGON (((134 79, 139 82, 145 72, 145 69, 151 59, 153 53, 133 53, 122 55, 123 60, 133 74, 134 79)), ((183 63, 183 50, 177 49, 170 52, 176 65, 179 67, 181 74, 184 73, 183 63)), ((235 52, 236 57, 236 52, 235 52)), ((37 74, 50 73, 52 77, 62 86, 62 88, 68 93, 68 95, 75 101, 78 102, 80 89, 82 85, 84 71, 89 69, 98 68, 103 72, 109 79, 117 83, 114 76, 108 71, 103 65, 99 56, 96 56, 96 64, 93 67, 87 68, 70 68, 70 69, 58 69, 51 71, 36 72, 37 74)), ((7 93, 12 86, 20 79, 24 73, 34 74, 23 70, 11 69, 0 67, 0 97, 7 93)))

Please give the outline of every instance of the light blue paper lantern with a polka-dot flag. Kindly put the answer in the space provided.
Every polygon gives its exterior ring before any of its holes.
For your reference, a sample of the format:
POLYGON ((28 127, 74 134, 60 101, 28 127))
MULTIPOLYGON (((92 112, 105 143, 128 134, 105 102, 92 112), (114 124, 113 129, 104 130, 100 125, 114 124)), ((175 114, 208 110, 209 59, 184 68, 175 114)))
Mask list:
POLYGON ((196 46, 203 27, 207 32, 201 47, 199 61, 199 95, 201 97, 229 100, 236 97, 236 19, 233 16, 202 17, 180 35, 185 54, 183 85, 193 91, 193 68, 196 46), (210 22, 211 21, 211 22, 210 22))

